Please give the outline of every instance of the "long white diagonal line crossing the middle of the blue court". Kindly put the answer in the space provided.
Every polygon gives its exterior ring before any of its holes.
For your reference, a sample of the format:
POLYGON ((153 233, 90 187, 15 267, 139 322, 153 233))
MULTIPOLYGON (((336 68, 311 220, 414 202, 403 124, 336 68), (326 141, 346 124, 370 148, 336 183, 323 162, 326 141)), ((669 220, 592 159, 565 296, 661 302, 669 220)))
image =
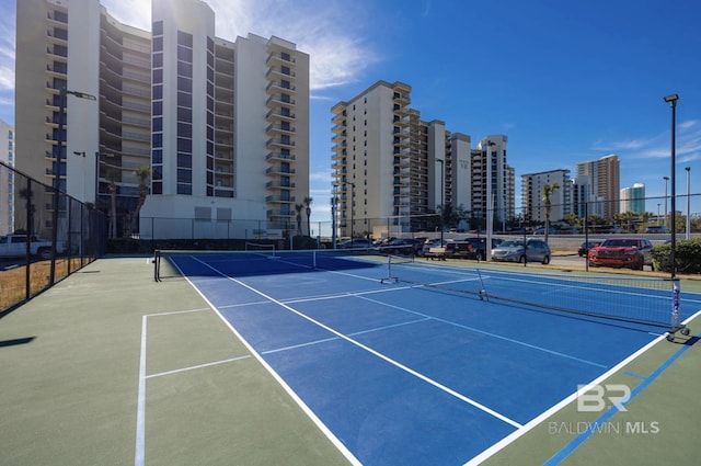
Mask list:
MULTIPOLYGON (((194 259, 195 259, 195 260, 197 260, 197 261, 199 261, 197 258, 194 258, 194 259)), ((374 349, 371 349, 371 348, 369 348, 369 346, 367 346, 367 345, 365 345, 365 344, 360 343, 359 341, 354 340, 354 339, 352 339, 350 337, 348 337, 348 336, 346 336, 346 334, 344 334, 344 333, 342 333, 342 332, 340 332, 340 331, 337 331, 337 330, 335 330, 335 329, 333 329, 333 328, 331 328, 331 327, 329 327, 329 326, 326 326, 326 325, 324 325, 324 323, 322 323, 322 322, 320 322, 320 321, 318 321, 318 320, 315 320, 315 319, 313 319, 313 318, 311 318, 311 317, 309 317, 309 316, 304 315, 303 312, 300 312, 299 310, 297 310, 297 309, 292 308, 291 306, 288 306, 288 305, 286 305, 285 303, 281 303, 281 302, 279 302, 279 300, 277 300, 277 299, 273 298, 272 296, 268 296, 268 295, 266 295, 265 293, 263 293, 263 292, 261 292, 261 291, 258 291, 258 289, 255 289, 255 288, 253 288, 252 286, 246 285, 245 283, 243 283, 243 282, 241 282, 241 281, 239 281, 239 280, 237 280, 237 279, 233 279, 233 277, 231 277, 231 276, 227 276, 227 275, 222 274, 222 273, 221 273, 221 272, 219 272, 217 269, 212 268, 211 265, 207 264, 206 262, 203 262, 203 261, 199 261, 199 262, 200 262, 203 265, 205 265, 205 266, 207 266, 207 268, 211 269, 212 271, 215 271, 215 272, 219 273, 220 275, 226 276, 226 277, 227 277, 228 280, 230 280, 231 282, 237 283, 237 284, 239 284, 239 285, 241 285, 241 286, 245 287, 246 289, 250 289, 251 292, 253 292, 253 293, 256 293, 256 294, 261 295, 262 297, 264 297, 264 298, 266 298, 266 299, 269 299, 269 302, 271 302, 271 303, 274 303, 274 304, 276 304, 276 305, 278 305, 278 306, 283 307, 284 309, 287 309, 287 310, 289 310, 290 312, 296 314, 297 316, 299 316, 299 317, 301 317, 301 318, 303 318, 303 319, 306 319, 306 320, 308 320, 308 321, 310 321, 310 322, 314 323, 315 326, 319 326, 320 328, 322 328, 322 329, 324 329, 324 330, 326 330, 326 331, 329 331, 329 332, 331 332, 331 333, 333 333, 333 334, 337 336, 338 338, 341 338, 341 339, 343 339, 343 340, 345 340, 345 341, 347 341, 347 342, 349 342, 349 343, 352 343, 352 344, 354 344, 354 345, 356 345, 356 346, 360 348, 361 350, 367 351, 368 353, 370 353, 370 354, 372 354, 372 355, 375 355, 375 356, 377 356, 377 357, 379 357, 379 359, 383 360, 384 362, 387 362, 387 363, 389 363, 389 364, 391 364, 391 365, 393 365, 393 366, 395 366, 395 367, 398 367, 398 368, 400 368, 400 370, 402 370, 402 371, 404 371, 404 372, 406 372, 406 373, 409 373, 409 374, 413 375, 413 376, 414 376, 414 377, 416 377, 416 378, 420 378, 420 379, 422 379, 422 380, 426 382, 426 383, 427 383, 427 384, 429 384, 429 385, 433 385, 434 387, 436 387, 436 388, 438 388, 438 389, 440 389, 440 390, 445 391, 446 394, 451 395, 451 396, 453 396, 455 398, 458 398, 459 400, 461 400, 461 401, 463 401, 463 402, 466 402, 466 404, 468 404, 468 405, 471 405, 471 406, 473 406, 473 407, 478 408, 479 410, 481 410, 481 411, 483 411, 483 412, 486 412, 486 413, 489 413, 489 414, 491 414, 491 416, 493 416, 493 417, 497 418, 498 420, 501 420, 501 421, 503 421, 503 422, 505 422, 505 423, 507 423, 507 424, 509 424, 509 425, 512 425, 512 427, 514 427, 514 428, 516 428, 516 429, 520 429, 520 428, 522 427, 520 423, 518 423, 518 422, 514 421, 513 419, 509 419, 509 418, 507 418, 506 416, 504 416, 504 414, 502 414, 502 413, 499 413, 499 412, 497 412, 497 411, 495 411, 495 410, 493 410, 493 409, 491 409, 491 408, 489 408, 489 407, 486 407, 486 406, 484 406, 484 405, 482 405, 482 404, 480 404, 480 402, 478 402, 478 401, 475 401, 475 400, 473 400, 473 399, 471 399, 471 398, 469 398, 469 397, 466 397, 466 396, 464 396, 464 395, 462 395, 462 394, 459 394, 458 391, 453 390, 452 388, 447 387, 447 386, 445 386, 445 385, 443 385, 443 384, 440 384, 440 383, 438 383, 438 382, 434 380, 433 378, 429 378, 429 377, 425 376, 424 374, 421 374, 420 372, 416 372, 416 371, 412 370, 411 367, 405 366, 404 364, 402 364, 402 363, 400 363, 400 362, 398 362, 398 361, 392 360, 391 357, 389 357, 389 356, 387 356, 387 355, 384 355, 384 354, 380 353, 379 351, 376 351, 376 350, 374 350, 374 349)), ((188 282, 189 282, 189 280, 188 280, 188 282)), ((191 282, 191 284, 192 284, 192 282, 191 282)), ((193 286, 194 286, 194 285, 193 285, 193 286)), ((195 289, 197 289, 197 288, 195 287, 195 289)), ((202 295, 202 294, 200 294, 200 295, 202 295)), ((202 296, 204 297, 204 295, 202 295, 202 296)), ((205 299, 206 299, 206 298, 205 298, 205 299)), ((212 306, 212 308, 216 310, 216 307, 214 307, 214 306, 212 306)), ((225 320, 225 322, 227 322, 227 321, 226 321, 226 319, 223 318, 223 316, 221 316, 221 318, 225 320)), ((232 327, 229 322, 227 322, 227 323, 228 323, 228 325, 229 325, 229 327, 233 330, 233 327, 232 327)), ((233 330, 233 331, 235 331, 235 330, 233 330)), ((237 332, 237 334, 239 334, 239 333, 237 332)), ((245 341, 245 340, 244 340, 244 341, 245 341)), ((251 348, 251 350, 253 351, 253 349, 252 349, 252 348, 251 348)), ((254 354, 257 354, 255 351, 253 351, 253 353, 254 353, 254 354)), ((262 360, 262 357, 261 357, 261 360, 262 360)), ((269 366, 268 366, 268 367, 269 367, 269 366)), ((272 367, 271 367, 271 371, 273 371, 273 368, 272 368, 272 367)), ((274 372, 273 372, 273 373, 274 373, 274 372)), ((274 374, 276 374, 276 373, 274 373, 274 374)), ((277 375, 277 374, 276 374, 276 375, 277 375)), ((279 377, 279 376, 278 376, 278 377, 279 377)), ((280 377, 280 379, 281 379, 281 377, 280 377)), ((286 387, 286 388, 289 388, 289 387, 287 386, 287 384, 285 384, 285 387, 286 387)), ((290 391, 291 391, 291 388, 290 388, 290 391)), ((301 400, 300 400, 300 401, 301 401, 301 400)), ((304 405, 304 406, 306 406, 306 405, 304 405)), ((307 409, 309 409, 309 408, 307 408, 307 409)), ((311 412, 311 410, 310 410, 310 412, 311 412)), ((314 418, 315 418, 315 419, 318 419, 315 416, 314 416, 314 418)), ((320 422, 321 422, 321 421, 320 421, 320 422)), ((326 428, 326 429, 327 429, 327 428, 326 428)), ((335 436, 334 436, 334 439, 335 439, 335 436)))

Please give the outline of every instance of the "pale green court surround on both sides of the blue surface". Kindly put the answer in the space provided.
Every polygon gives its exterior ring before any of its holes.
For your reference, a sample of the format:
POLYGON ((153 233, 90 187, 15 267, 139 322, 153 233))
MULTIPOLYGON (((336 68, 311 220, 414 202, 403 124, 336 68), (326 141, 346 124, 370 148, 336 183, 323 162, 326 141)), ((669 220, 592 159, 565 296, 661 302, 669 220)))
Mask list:
MULTIPOLYGON (((0 464, 354 462, 185 280, 152 276, 148 258, 101 259, 0 318, 0 464)), ((696 464, 701 318, 689 327, 600 380, 630 387, 627 411, 573 397, 473 464, 696 464)))

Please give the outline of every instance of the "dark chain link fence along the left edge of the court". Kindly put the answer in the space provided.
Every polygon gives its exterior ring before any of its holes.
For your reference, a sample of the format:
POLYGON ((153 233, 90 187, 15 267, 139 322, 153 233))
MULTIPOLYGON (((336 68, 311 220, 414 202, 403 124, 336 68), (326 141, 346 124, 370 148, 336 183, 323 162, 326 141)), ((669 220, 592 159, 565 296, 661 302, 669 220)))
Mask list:
POLYGON ((92 206, 0 162, 0 316, 104 254, 105 226, 92 206))

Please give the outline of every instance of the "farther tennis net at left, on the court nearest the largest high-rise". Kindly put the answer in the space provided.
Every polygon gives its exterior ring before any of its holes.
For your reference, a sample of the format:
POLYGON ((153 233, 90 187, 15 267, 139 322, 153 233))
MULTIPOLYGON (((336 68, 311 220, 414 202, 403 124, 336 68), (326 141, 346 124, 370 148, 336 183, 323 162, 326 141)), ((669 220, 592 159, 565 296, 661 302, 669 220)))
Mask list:
POLYGON ((249 248, 245 251, 163 250, 154 251, 153 279, 174 276, 264 275, 311 270, 386 268, 387 257, 372 250, 275 250, 249 248))

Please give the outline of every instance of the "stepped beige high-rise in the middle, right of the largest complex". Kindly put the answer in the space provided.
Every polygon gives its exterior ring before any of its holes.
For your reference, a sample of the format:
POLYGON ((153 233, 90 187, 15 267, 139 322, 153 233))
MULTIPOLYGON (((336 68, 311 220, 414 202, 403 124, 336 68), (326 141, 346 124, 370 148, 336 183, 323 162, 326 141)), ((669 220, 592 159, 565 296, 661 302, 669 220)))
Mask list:
MULTIPOLYGON (((475 156, 470 136, 447 130, 441 121, 422 121, 410 94, 409 84, 378 81, 331 109, 341 236, 433 230, 444 205, 486 212, 486 152, 475 156)), ((492 139, 498 145, 495 205, 506 221, 514 213, 514 171, 505 163, 506 136, 492 139)))

